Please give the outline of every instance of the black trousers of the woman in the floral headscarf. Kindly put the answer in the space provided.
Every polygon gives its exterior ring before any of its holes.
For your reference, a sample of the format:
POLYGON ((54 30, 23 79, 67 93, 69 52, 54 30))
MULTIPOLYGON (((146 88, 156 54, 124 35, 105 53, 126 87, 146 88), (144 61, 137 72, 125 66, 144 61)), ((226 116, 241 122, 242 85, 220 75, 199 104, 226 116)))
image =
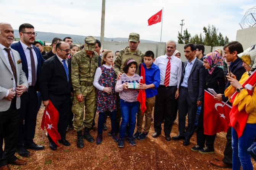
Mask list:
POLYGON ((196 130, 197 145, 204 147, 208 146, 209 149, 214 149, 214 140, 216 135, 204 134, 204 102, 202 102, 201 111, 198 118, 198 125, 196 130))

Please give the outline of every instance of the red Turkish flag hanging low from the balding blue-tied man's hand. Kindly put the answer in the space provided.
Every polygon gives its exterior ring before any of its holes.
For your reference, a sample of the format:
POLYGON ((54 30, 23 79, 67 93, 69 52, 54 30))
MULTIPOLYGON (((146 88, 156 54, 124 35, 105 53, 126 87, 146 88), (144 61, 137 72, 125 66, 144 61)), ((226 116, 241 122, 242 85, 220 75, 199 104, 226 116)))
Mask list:
POLYGON ((44 110, 41 128, 44 130, 46 127, 47 134, 52 138, 53 142, 57 145, 58 140, 61 139, 60 133, 58 132, 58 120, 59 120, 59 113, 57 109, 53 106, 52 102, 49 100, 49 105, 44 110))

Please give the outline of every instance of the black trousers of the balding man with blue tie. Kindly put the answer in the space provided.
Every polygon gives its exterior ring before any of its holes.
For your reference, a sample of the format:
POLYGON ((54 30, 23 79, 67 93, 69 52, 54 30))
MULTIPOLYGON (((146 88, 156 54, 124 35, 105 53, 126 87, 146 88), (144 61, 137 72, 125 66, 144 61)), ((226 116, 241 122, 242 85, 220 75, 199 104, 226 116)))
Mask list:
POLYGON ((60 133, 61 139, 64 140, 66 139, 66 129, 70 116, 70 95, 49 95, 49 99, 59 112, 58 132, 60 133))

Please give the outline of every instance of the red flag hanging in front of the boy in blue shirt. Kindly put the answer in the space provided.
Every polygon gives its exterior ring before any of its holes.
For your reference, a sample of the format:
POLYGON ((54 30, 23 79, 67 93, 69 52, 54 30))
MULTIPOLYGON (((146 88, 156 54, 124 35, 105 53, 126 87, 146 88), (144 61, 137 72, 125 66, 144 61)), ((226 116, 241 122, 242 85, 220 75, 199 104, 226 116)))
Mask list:
MULTIPOLYGON (((141 64, 141 79, 140 79, 139 83, 145 84, 145 69, 144 69, 143 64, 141 64)), ((137 100, 138 100, 139 103, 141 103, 141 111, 142 111, 142 114, 143 114, 147 110, 145 90, 143 90, 143 89, 139 90, 137 100)))

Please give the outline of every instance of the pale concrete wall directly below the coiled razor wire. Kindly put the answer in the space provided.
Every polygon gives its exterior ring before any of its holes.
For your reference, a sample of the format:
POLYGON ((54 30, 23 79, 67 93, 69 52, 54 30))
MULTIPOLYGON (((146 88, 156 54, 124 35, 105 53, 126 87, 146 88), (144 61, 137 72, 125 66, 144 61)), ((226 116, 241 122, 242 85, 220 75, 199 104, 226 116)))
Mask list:
POLYGON ((238 30, 236 41, 243 45, 243 49, 247 49, 256 44, 256 26, 238 30))

